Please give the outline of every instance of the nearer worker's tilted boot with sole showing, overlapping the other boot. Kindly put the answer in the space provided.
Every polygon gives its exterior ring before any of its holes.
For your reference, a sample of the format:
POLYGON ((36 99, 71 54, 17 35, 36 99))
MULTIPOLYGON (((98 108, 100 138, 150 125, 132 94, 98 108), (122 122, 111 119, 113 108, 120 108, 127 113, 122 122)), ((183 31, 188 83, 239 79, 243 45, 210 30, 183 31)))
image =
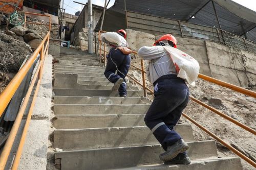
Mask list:
POLYGON ((162 161, 169 161, 174 159, 179 153, 188 150, 188 144, 183 140, 179 139, 173 145, 167 147, 167 151, 160 154, 159 158, 162 161))

